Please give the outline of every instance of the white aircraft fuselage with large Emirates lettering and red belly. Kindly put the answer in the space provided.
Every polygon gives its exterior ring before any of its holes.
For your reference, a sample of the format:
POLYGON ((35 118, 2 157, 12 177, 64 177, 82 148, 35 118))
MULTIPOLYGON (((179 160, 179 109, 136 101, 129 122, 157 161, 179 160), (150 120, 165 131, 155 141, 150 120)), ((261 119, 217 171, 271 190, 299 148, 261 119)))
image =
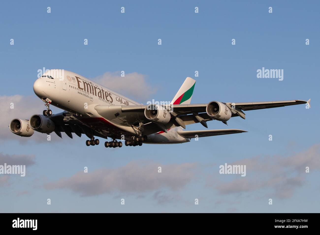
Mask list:
MULTIPOLYGON (((129 137, 136 134, 131 126, 119 125, 102 117, 94 107, 140 104, 79 74, 67 70, 60 72, 49 70, 35 81, 33 90, 43 101, 46 98, 50 99, 53 106, 75 114, 79 121, 103 136, 120 139, 121 135, 129 137)), ((189 142, 190 139, 178 135, 177 129, 180 128, 170 129, 168 133, 151 134, 148 136, 148 142, 159 144, 189 142)))

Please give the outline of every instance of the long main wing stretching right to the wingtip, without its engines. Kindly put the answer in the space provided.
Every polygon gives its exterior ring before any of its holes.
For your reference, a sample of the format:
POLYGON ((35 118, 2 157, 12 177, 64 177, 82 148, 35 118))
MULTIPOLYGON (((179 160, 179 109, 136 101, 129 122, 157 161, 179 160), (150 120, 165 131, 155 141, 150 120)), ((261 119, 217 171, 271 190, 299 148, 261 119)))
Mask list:
MULTIPOLYGON (((267 101, 267 102, 247 102, 247 103, 224 103, 226 104, 232 112, 231 117, 240 116, 245 119, 245 114, 242 112, 246 110, 256 110, 256 109, 265 109, 265 108, 275 108, 283 107, 289 105, 298 105, 298 104, 308 104, 310 106, 310 99, 308 101, 304 100, 284 100, 284 101, 267 101)), ((206 121, 213 120, 206 113, 207 104, 177 104, 177 105, 166 105, 165 107, 168 110, 172 110, 171 120, 164 125, 159 125, 153 122, 150 122, 144 116, 144 110, 147 107, 146 105, 98 105, 95 106, 95 110, 104 118, 110 120, 113 123, 116 123, 121 126, 138 126, 139 123, 143 123, 144 135, 149 135, 157 131, 166 131, 167 129, 182 126, 185 128, 185 125, 198 123, 199 120, 202 120, 201 124, 205 127, 206 121), (179 118, 177 118, 179 117, 179 118), (200 118, 199 118, 200 117, 200 118)))

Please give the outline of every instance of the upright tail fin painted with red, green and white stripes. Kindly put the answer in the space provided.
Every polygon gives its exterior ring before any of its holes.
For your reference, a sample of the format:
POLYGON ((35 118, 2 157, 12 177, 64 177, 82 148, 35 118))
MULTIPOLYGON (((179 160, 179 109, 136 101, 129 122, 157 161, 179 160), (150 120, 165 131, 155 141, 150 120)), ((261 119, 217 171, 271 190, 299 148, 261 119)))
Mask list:
POLYGON ((190 104, 195 84, 196 80, 192 79, 191 77, 187 77, 170 104, 190 104))

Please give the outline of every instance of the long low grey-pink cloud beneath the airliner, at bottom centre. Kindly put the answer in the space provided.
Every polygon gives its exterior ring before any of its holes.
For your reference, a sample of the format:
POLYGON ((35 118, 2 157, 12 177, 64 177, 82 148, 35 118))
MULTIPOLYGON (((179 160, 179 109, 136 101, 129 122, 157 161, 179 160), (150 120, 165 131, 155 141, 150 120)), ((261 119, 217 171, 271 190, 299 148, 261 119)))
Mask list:
POLYGON ((69 178, 61 178, 45 184, 46 189, 70 189, 81 196, 94 196, 104 193, 139 193, 157 191, 162 188, 179 190, 194 177, 196 164, 183 163, 162 166, 162 164, 139 164, 129 162, 116 168, 100 168, 93 172, 78 172, 69 178))

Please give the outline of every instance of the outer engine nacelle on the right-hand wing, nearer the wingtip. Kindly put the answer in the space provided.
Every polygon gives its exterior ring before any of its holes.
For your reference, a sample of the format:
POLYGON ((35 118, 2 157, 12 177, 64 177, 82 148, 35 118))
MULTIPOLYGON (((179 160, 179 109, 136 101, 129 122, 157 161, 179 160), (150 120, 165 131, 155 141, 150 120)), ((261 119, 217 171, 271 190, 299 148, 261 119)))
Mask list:
POLYGON ((211 118, 218 121, 228 121, 231 118, 229 107, 218 101, 211 101, 205 111, 211 118))

